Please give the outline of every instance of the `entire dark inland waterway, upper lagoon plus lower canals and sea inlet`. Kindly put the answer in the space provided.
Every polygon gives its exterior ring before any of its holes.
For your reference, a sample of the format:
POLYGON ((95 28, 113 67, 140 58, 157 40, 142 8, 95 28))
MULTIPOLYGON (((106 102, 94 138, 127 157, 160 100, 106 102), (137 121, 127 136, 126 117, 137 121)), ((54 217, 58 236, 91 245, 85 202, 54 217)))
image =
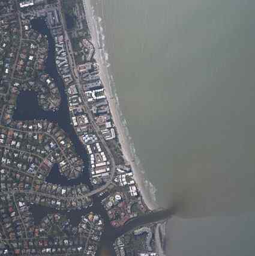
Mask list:
MULTIPOLYGON (((82 158, 84 162, 83 174, 82 177, 74 180, 68 180, 66 177, 59 173, 58 165, 55 164, 46 181, 53 184, 60 184, 62 186, 74 186, 79 183, 85 183, 89 186, 90 189, 92 189, 92 186, 89 183, 88 157, 86 150, 82 143, 79 141, 73 126, 71 126, 64 83, 56 68, 55 43, 52 34, 50 34, 50 30, 47 28, 46 21, 43 19, 31 20, 31 25, 32 29, 38 31, 40 34, 47 36, 49 49, 45 63, 45 72, 54 79, 55 84, 58 87, 59 93, 61 94, 61 105, 59 106, 58 111, 43 111, 43 109, 41 109, 41 107, 38 105, 37 93, 34 91, 22 91, 17 98, 17 108, 14 113, 14 120, 48 120, 58 124, 58 126, 68 134, 71 141, 73 142, 74 148, 76 149, 76 153, 82 158)), ((139 225, 160 221, 160 219, 166 219, 170 215, 169 210, 163 210, 157 213, 151 213, 150 215, 142 216, 140 218, 134 218, 124 227, 113 228, 110 225, 106 210, 101 206, 101 199, 102 198, 98 197, 97 195, 94 195, 93 206, 81 210, 58 211, 50 207, 42 207, 36 205, 32 205, 30 209, 34 216, 35 223, 39 223, 41 219, 47 214, 57 212, 70 218, 71 224, 73 225, 77 225, 80 222, 82 215, 86 215, 86 213, 92 211, 100 214, 104 219, 105 229, 97 255, 115 255, 115 251, 113 250, 112 245, 117 237, 121 236, 127 231, 133 230, 133 228, 136 228, 139 225)))

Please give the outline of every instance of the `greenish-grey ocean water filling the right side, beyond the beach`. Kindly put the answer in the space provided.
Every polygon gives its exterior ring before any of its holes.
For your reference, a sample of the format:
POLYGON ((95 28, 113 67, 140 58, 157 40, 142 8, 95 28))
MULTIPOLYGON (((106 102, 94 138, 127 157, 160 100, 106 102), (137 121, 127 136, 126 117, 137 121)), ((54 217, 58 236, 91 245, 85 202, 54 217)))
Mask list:
POLYGON ((92 2, 167 254, 254 255, 255 2, 92 2))

